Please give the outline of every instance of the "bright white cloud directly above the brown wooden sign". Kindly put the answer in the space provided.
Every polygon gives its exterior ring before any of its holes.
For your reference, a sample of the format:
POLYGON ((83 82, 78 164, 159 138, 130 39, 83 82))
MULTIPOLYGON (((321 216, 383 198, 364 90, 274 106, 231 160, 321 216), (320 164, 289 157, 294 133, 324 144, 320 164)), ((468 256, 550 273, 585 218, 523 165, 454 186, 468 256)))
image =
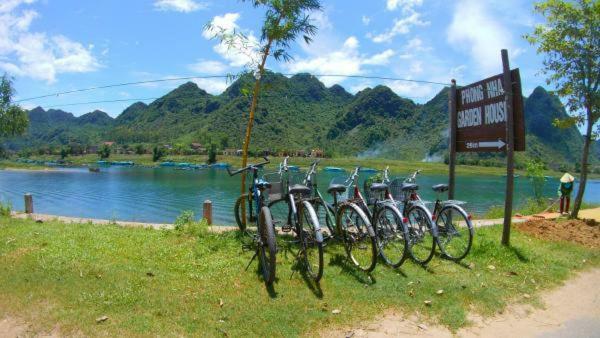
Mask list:
POLYGON ((513 49, 510 32, 491 13, 486 3, 461 0, 456 3, 447 40, 472 59, 482 76, 500 72, 500 50, 513 49))

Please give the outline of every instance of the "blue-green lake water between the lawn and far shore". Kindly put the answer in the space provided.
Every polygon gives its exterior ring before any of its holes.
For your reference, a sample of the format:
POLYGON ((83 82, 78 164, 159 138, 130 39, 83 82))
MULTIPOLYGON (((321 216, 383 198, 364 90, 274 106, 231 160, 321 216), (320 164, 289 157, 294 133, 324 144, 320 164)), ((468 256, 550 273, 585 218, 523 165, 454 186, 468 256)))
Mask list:
MULTIPOLYGON (((274 166, 273 166, 274 167, 274 166)), ((319 173, 320 190, 326 194, 329 180, 340 173, 319 173)), ((446 176, 422 175, 418 178, 421 195, 435 198, 430 186, 445 183, 446 176)), ((503 205, 505 178, 500 176, 457 177, 456 199, 467 201, 469 212, 483 214, 490 206, 503 205)), ((546 182, 544 193, 556 197, 557 179, 546 182)), ((100 173, 87 168, 55 171, 0 170, 0 200, 23 210, 23 195, 32 193, 37 213, 171 223, 184 210, 202 214, 202 202, 213 202, 215 224, 232 224, 233 204, 239 195, 239 176, 229 177, 225 170, 197 171, 171 168, 108 167, 100 173)), ((527 178, 515 179, 515 206, 532 196, 527 178)), ((600 181, 592 180, 585 200, 600 203, 600 181)))

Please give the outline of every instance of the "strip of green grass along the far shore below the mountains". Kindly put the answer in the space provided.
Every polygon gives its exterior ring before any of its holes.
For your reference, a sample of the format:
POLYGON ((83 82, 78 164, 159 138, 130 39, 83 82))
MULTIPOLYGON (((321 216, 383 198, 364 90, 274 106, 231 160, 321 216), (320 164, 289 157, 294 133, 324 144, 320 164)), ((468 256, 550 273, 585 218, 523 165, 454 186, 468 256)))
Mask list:
MULTIPOLYGON (((45 155, 45 156, 32 156, 33 160, 41 161, 55 161, 59 159, 56 155, 45 155)), ((190 162, 190 163, 205 163, 207 161, 207 155, 172 155, 167 156, 162 161, 174 161, 174 162, 190 162)), ((282 161, 280 157, 270 158, 272 163, 277 164, 282 161)), ((98 161, 98 155, 90 154, 83 156, 70 156, 65 159, 72 165, 88 165, 95 164, 98 161)), ((240 166, 242 158, 239 156, 218 156, 219 162, 227 162, 233 166, 240 166)), ((261 159, 250 158, 250 163, 258 162, 261 159)), ((314 159, 294 157, 290 160, 290 164, 308 166, 314 159)), ((152 155, 124 155, 124 154, 113 154, 110 156, 108 161, 133 161, 138 165, 144 166, 156 166, 158 163, 152 162, 152 155)), ((422 169, 424 174, 448 174, 448 166, 444 163, 433 163, 433 162, 420 162, 420 161, 401 161, 401 160, 388 160, 388 159, 374 159, 374 158, 357 158, 357 157, 343 157, 343 158, 326 158, 321 161, 321 168, 325 166, 336 166, 343 167, 346 169, 352 169, 354 166, 360 165, 363 167, 370 167, 376 169, 383 169, 386 166, 390 166, 390 170, 394 173, 410 173, 416 169, 422 169)), ((0 168, 20 168, 20 169, 35 169, 43 168, 42 166, 36 166, 32 164, 18 163, 14 161, 0 161, 0 168)), ((484 166, 469 166, 469 165, 458 165, 456 172, 459 175, 504 175, 506 169, 497 167, 484 167, 484 166)), ((517 171, 519 174, 524 174, 522 171, 517 171)), ((546 175, 558 176, 560 173, 548 171, 546 175)))

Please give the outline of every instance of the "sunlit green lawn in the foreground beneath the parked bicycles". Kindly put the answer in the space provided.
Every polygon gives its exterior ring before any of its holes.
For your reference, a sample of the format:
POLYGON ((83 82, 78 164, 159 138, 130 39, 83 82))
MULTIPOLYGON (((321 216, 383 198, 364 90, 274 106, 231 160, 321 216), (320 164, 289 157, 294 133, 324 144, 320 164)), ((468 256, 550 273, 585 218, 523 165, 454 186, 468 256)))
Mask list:
POLYGON ((279 279, 267 290, 256 262, 244 271, 251 253, 236 232, 181 224, 156 231, 0 217, 0 318, 16 316, 37 332, 58 326, 62 334, 297 336, 396 309, 456 330, 468 325, 469 311, 493 315, 510 302, 536 302, 539 290, 600 263, 597 250, 518 232, 512 248, 502 247, 493 227, 477 230, 463 265, 439 258, 428 269, 379 265, 372 278, 349 266, 339 246, 328 246, 320 287, 292 275, 294 253, 282 250, 279 279))

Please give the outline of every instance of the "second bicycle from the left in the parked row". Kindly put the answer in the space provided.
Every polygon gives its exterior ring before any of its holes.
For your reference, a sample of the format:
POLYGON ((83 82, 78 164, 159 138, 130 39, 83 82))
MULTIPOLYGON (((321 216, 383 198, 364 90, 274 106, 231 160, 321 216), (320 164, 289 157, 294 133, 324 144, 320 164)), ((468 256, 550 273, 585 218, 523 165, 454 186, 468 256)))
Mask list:
POLYGON ((273 223, 278 225, 285 222, 281 227, 282 232, 294 232, 295 240, 292 243, 300 243, 298 255, 302 255, 308 275, 318 283, 323 277, 323 234, 312 205, 311 189, 306 186, 304 175, 290 173, 288 157, 279 168, 277 175, 283 189, 280 187, 269 192, 270 196, 280 197, 271 199, 269 209, 283 210, 274 212, 273 223))

